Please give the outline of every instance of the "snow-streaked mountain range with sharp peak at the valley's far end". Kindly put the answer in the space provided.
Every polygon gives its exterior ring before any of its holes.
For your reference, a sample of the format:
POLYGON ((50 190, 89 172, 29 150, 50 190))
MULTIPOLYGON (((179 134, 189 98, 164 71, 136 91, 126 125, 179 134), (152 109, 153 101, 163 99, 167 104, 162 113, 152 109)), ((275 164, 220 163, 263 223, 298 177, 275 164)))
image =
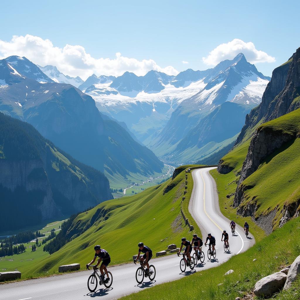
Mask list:
MULTIPOLYGON (((85 93, 94 98, 101 112, 125 122, 143 143, 152 147, 152 134, 157 137, 177 107, 204 116, 231 101, 250 111, 260 103, 269 79, 240 53, 214 68, 188 69, 177 76, 153 70, 145 76, 125 72, 111 83, 89 86, 85 93)), ((152 150, 157 151, 154 147, 152 150)))

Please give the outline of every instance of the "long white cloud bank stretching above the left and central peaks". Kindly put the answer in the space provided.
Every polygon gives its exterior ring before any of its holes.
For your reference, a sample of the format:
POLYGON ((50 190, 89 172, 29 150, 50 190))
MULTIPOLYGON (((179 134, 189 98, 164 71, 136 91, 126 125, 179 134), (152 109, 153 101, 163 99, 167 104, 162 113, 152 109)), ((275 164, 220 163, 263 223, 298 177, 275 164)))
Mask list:
POLYGON ((179 72, 172 66, 161 67, 153 59, 138 60, 116 53, 115 58, 95 58, 86 53, 79 45, 65 45, 63 48, 53 46, 48 39, 25 35, 13 36, 11 41, 0 40, 0 58, 10 55, 25 56, 30 61, 41 66, 54 65, 65 75, 80 76, 86 79, 92 73, 96 75, 120 76, 125 71, 136 75, 145 75, 150 70, 156 70, 169 75, 179 72))

